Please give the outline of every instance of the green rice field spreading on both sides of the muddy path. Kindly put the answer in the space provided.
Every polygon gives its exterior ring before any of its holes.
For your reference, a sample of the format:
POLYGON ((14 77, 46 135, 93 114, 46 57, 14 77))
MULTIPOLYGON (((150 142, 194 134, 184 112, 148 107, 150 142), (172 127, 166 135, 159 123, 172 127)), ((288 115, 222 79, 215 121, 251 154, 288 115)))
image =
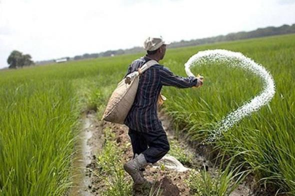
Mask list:
MULTIPOLYGON (((185 76, 184 63, 200 50, 238 51, 263 65, 276 92, 269 104, 214 143, 237 156, 261 184, 295 196, 295 34, 167 49, 161 64, 185 76)), ((101 117, 131 54, 0 71, 0 196, 64 196, 81 114, 101 117)), ((262 89, 255 75, 204 63, 192 68, 201 88, 163 87, 163 110, 177 135, 205 139, 214 125, 262 89)))

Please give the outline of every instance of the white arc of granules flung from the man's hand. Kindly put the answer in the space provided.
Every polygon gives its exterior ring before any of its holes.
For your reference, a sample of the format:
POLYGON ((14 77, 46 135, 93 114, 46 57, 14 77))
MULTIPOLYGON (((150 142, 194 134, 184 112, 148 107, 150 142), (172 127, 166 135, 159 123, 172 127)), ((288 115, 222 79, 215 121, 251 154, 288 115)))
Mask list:
POLYGON ((263 82, 263 89, 258 95, 244 103, 237 110, 227 114, 217 123, 216 128, 212 130, 212 135, 206 139, 206 143, 213 142, 221 136, 222 132, 227 131, 242 118, 259 110, 260 107, 267 104, 275 93, 275 86, 272 76, 262 65, 255 63, 252 59, 244 56, 240 52, 232 52, 223 49, 204 50, 191 56, 184 64, 186 74, 188 76, 194 76, 190 71, 190 67, 198 66, 204 62, 222 63, 231 67, 241 67, 242 69, 259 76, 263 82))

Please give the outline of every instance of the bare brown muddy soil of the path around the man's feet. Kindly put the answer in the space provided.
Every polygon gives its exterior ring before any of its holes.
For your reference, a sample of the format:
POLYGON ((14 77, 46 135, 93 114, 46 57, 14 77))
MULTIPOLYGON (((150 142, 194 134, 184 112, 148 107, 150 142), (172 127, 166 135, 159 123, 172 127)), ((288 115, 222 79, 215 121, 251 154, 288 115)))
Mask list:
MULTIPOLYGON (((171 120, 167 118, 162 113, 159 113, 159 118, 162 122, 164 129, 168 135, 168 139, 175 139, 173 136, 173 131, 171 128, 171 120)), ((90 124, 90 126, 85 126, 83 132, 91 132, 90 137, 83 137, 86 140, 86 146, 89 152, 83 152, 83 162, 81 168, 84 168, 82 172, 83 178, 79 179, 77 188, 73 188, 70 196, 99 196, 100 193, 106 189, 105 184, 94 175, 96 167, 96 157, 95 155, 102 148, 103 144, 103 134, 102 130, 105 128, 110 128, 113 133, 115 133, 116 142, 118 145, 123 145, 130 143, 128 137, 128 128, 124 125, 113 124, 108 122, 102 122, 96 120, 95 112, 90 111, 85 115, 83 121, 89 121, 85 124, 90 124)), ((85 134, 84 134, 85 135, 85 134)), ((86 134, 87 135, 87 134, 86 134)), ((185 149, 187 153, 192 153, 194 155, 193 163, 189 164, 195 169, 201 169, 205 166, 206 170, 209 172, 214 172, 215 168, 212 167, 210 161, 208 161, 205 156, 199 155, 194 148, 189 145, 185 139, 178 140, 181 144, 181 148, 185 149)), ((133 156, 131 146, 124 151, 123 162, 129 161, 133 156)), ((187 166, 186 166, 187 167, 187 166)), ((144 171, 144 177, 154 183, 154 190, 158 190, 160 187, 162 192, 161 196, 192 196, 189 192, 189 188, 185 183, 188 179, 190 171, 186 172, 175 172, 172 170, 165 169, 164 171, 155 168, 152 165, 146 167, 144 171)), ((129 178, 129 177, 128 177, 129 178)), ((75 183, 77 184, 77 182, 75 183)), ((148 191, 149 192, 149 191, 148 191)), ((133 196, 148 196, 144 192, 133 191, 133 196)), ((248 183, 243 183, 240 185, 230 196, 254 196, 251 194, 248 183)))

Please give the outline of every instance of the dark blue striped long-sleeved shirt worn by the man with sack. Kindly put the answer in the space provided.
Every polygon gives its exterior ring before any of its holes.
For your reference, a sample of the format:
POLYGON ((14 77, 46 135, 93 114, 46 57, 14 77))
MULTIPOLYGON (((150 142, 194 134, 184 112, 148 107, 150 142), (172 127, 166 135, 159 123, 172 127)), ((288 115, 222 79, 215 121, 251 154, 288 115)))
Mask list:
MULTIPOLYGON (((128 67, 128 72, 137 71, 150 59, 146 56, 134 60, 128 67)), ((125 76, 126 77, 126 76, 125 76)), ((134 103, 124 121, 130 129, 139 132, 156 131, 162 129, 162 124, 157 118, 157 99, 162 86, 175 86, 188 88, 195 86, 195 77, 180 77, 174 75, 167 67, 157 64, 142 73, 134 103)))

